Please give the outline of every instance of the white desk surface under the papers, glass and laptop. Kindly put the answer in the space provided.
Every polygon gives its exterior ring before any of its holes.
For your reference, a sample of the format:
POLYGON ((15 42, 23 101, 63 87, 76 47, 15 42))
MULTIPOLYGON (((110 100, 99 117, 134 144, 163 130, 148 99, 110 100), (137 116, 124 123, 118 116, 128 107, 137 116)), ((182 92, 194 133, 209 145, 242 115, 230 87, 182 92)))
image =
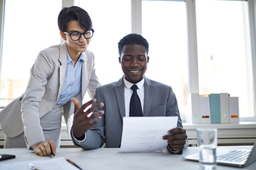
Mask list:
MULTIPOLYGON (((217 148, 221 152, 222 148, 217 148)), ((232 147, 234 148, 234 147, 232 147)), ((252 146, 241 146, 235 148, 251 149, 252 146)), ((156 153, 118 153, 118 148, 99 148, 85 151, 81 148, 59 148, 55 157, 64 157, 74 161, 83 169, 200 169, 199 163, 194 161, 185 161, 182 156, 194 154, 198 150, 196 147, 187 148, 182 155, 169 154, 166 151, 156 153)), ((3 164, 9 164, 17 161, 38 161, 54 159, 50 157, 40 157, 26 148, 8 148, 0 149, 0 154, 16 154, 16 158, 8 161, 1 161, 3 164)), ((217 170, 235 170, 237 167, 217 166, 217 170)), ((256 169, 256 162, 242 169, 256 169)))

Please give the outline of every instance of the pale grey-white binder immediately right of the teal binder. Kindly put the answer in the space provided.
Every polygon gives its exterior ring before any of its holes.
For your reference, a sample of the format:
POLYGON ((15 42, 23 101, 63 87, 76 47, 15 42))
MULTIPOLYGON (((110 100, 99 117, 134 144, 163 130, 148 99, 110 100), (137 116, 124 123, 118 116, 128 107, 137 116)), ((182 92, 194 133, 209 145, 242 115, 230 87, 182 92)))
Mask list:
POLYGON ((229 121, 229 94, 220 93, 221 102, 221 123, 230 123, 229 121))

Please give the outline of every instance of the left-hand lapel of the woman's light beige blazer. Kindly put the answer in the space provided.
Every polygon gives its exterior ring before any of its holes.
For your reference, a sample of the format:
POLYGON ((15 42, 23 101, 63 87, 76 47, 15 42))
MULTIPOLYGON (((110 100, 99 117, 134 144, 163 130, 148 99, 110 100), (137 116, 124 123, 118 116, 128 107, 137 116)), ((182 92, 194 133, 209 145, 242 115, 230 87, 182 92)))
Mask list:
POLYGON ((66 41, 61 44, 59 61, 60 61, 61 66, 60 66, 60 79, 59 79, 60 88, 59 88, 59 92, 58 92, 58 98, 61 95, 61 91, 62 91, 62 87, 64 85, 64 80, 65 80, 65 75, 66 75, 66 69, 67 69, 67 44, 66 44, 66 41))

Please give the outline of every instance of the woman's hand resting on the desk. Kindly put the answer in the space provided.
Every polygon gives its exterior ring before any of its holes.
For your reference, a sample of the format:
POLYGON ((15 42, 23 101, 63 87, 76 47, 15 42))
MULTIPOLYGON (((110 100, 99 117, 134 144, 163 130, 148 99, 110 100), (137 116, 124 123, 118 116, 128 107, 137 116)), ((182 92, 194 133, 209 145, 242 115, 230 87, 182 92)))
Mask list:
POLYGON ((56 154, 55 144, 52 140, 37 143, 33 146, 35 154, 40 156, 51 156, 56 154))

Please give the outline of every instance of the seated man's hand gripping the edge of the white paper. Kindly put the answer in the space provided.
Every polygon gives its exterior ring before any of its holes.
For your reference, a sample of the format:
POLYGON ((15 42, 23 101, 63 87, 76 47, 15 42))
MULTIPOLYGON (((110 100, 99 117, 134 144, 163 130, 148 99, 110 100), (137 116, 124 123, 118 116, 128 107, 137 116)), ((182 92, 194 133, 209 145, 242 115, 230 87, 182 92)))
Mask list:
POLYGON ((186 130, 181 128, 170 129, 168 134, 169 135, 163 135, 163 140, 168 140, 168 144, 173 150, 182 150, 188 138, 186 130))

